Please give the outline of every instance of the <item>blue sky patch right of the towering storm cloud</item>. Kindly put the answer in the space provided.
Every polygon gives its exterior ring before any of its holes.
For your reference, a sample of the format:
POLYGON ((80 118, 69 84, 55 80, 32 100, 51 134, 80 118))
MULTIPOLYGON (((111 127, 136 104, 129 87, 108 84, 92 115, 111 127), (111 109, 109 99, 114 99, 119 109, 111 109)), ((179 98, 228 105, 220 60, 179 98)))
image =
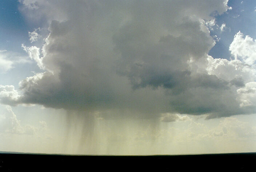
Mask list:
POLYGON ((232 7, 232 10, 216 17, 216 24, 218 26, 225 24, 225 30, 223 32, 216 29, 211 30, 212 36, 217 35, 220 38, 220 41, 209 52, 213 58, 229 59, 229 45, 239 30, 252 38, 256 36, 256 19, 254 17, 256 2, 253 0, 229 0, 228 6, 232 7))

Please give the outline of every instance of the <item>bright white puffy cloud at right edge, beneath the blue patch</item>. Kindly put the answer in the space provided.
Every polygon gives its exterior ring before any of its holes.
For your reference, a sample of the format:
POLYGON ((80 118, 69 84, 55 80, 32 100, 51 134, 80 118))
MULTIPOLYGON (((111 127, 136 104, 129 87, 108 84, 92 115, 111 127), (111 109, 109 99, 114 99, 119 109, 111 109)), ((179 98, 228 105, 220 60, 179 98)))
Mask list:
POLYGON ((229 51, 235 59, 240 59, 246 64, 253 65, 256 60, 256 41, 248 35, 244 36, 240 31, 234 36, 229 46, 229 51))

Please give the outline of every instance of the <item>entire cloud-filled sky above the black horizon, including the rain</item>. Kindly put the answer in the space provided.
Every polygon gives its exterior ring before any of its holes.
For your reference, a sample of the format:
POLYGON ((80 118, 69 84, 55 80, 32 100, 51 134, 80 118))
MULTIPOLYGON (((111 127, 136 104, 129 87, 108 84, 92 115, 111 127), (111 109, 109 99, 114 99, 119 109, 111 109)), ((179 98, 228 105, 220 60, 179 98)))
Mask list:
POLYGON ((0 2, 0 151, 256 151, 256 1, 0 2))

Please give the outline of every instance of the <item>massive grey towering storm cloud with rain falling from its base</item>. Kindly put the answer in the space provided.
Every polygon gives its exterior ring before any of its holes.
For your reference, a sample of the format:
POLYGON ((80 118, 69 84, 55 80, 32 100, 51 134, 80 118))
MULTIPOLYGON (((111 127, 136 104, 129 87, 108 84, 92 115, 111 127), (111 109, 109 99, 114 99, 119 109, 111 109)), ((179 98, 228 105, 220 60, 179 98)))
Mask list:
POLYGON ((205 23, 231 9, 227 1, 20 1, 50 33, 41 49, 23 45, 45 72, 19 83, 16 102, 146 117, 255 112, 242 105, 254 58, 208 55, 215 41, 205 23))

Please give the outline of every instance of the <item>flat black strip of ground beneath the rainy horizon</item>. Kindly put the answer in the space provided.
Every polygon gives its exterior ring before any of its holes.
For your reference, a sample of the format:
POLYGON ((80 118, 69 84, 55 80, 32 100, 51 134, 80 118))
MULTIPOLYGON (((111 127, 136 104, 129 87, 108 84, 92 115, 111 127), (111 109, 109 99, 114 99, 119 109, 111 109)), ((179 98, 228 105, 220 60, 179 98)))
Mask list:
POLYGON ((0 153, 4 171, 255 171, 256 153, 92 156, 0 153))

